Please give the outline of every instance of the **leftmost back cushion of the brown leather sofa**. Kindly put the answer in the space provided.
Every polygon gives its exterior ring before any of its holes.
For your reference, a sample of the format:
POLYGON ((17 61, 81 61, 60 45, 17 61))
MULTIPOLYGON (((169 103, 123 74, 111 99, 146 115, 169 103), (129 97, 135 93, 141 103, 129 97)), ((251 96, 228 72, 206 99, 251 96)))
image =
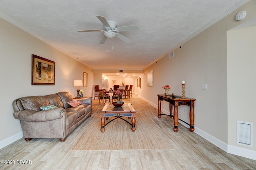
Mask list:
POLYGON ((28 96, 19 99, 26 110, 40 111, 41 106, 49 105, 49 100, 45 96, 28 96))

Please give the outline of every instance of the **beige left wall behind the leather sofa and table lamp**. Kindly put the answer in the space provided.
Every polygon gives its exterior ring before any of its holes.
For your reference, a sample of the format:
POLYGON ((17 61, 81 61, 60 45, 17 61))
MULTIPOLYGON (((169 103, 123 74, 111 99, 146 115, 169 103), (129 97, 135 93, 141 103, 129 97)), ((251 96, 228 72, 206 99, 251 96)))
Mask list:
POLYGON ((1 57, 1 119, 0 147, 8 145, 17 137, 22 137, 20 122, 13 117, 12 101, 24 96, 47 95, 68 91, 76 96, 73 80, 83 80, 83 72, 88 73, 88 87, 84 96, 92 96, 92 69, 68 57, 32 35, 0 18, 1 57), (38 55, 56 62, 54 86, 31 85, 31 55, 38 55))

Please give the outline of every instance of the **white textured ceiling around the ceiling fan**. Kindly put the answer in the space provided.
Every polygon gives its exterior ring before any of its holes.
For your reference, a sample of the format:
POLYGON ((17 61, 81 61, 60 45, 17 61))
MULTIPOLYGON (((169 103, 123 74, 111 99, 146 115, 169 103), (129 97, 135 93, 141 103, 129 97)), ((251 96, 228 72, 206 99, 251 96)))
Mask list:
POLYGON ((0 17, 94 69, 143 69, 249 0, 1 0, 0 17), (96 16, 131 43, 114 37, 99 44, 96 16))

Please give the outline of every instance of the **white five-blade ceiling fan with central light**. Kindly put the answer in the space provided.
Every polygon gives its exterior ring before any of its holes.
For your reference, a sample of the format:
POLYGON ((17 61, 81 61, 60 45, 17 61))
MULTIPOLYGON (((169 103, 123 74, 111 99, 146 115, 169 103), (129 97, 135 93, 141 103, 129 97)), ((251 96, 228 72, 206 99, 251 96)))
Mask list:
POLYGON ((126 43, 130 43, 131 40, 125 37, 124 35, 118 33, 120 31, 133 31, 133 30, 139 30, 140 28, 138 25, 130 25, 130 26, 124 26, 124 27, 117 27, 116 23, 114 21, 107 21, 106 18, 103 16, 97 16, 97 18, 103 23, 105 30, 102 29, 88 29, 88 30, 80 30, 78 32, 93 32, 93 31, 100 31, 104 32, 104 36, 102 37, 100 44, 104 44, 107 38, 113 38, 118 37, 122 41, 126 43))

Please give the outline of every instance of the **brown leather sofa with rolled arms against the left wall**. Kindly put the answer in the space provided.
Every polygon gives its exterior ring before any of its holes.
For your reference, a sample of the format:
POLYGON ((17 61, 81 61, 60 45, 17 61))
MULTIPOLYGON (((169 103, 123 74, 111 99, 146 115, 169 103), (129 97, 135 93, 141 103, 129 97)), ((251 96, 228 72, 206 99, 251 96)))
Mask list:
POLYGON ((67 102, 74 100, 69 92, 59 92, 46 96, 29 96, 14 100, 14 117, 20 120, 23 137, 55 138, 66 140, 78 125, 92 113, 92 98, 76 99, 82 102, 72 107, 67 102), (40 110, 42 106, 54 105, 58 108, 40 110))

